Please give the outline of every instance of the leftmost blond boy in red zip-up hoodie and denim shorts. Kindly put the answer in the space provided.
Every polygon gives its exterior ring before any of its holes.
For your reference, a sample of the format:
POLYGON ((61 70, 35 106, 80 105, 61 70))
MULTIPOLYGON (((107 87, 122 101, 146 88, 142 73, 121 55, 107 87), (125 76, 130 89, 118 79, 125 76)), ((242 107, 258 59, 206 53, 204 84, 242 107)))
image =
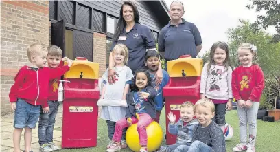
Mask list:
MULTIPOLYGON (((27 49, 27 56, 31 66, 23 66, 14 77, 14 85, 10 89, 11 108, 14 110, 14 152, 20 151, 21 132, 25 129, 25 151, 30 152, 32 129, 40 116, 40 107, 43 112, 49 112, 47 105, 49 80, 62 76, 69 70, 72 61, 61 68, 45 67, 47 49, 35 43, 27 49)), ((31 151, 32 152, 32 151, 31 151)))

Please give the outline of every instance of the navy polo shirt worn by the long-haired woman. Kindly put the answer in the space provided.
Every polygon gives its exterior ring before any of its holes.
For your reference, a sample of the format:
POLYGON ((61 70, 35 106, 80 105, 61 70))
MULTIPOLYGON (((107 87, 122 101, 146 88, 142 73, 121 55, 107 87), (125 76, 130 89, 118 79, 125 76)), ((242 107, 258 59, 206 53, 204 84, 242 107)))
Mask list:
POLYGON ((122 31, 121 36, 126 36, 126 40, 113 41, 112 51, 116 44, 122 43, 128 47, 128 67, 132 70, 134 74, 137 69, 144 67, 145 52, 147 49, 156 48, 154 39, 150 29, 145 25, 140 25, 135 23, 133 28, 126 32, 126 27, 122 31))

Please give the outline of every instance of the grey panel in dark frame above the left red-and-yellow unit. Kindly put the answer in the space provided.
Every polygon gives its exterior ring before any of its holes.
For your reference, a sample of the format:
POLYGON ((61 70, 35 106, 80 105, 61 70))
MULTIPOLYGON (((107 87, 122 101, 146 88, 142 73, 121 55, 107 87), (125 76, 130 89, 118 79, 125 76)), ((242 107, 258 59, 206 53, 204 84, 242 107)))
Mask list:
POLYGON ((85 57, 93 61, 93 34, 73 30, 73 58, 85 57))

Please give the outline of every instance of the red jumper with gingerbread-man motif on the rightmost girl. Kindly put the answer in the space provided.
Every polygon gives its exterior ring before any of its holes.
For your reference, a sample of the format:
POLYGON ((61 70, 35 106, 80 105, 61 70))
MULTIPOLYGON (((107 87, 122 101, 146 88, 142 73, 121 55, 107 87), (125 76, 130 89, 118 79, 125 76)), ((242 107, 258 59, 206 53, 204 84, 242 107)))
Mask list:
POLYGON ((231 80, 233 97, 235 100, 252 100, 259 102, 264 89, 264 73, 259 65, 250 67, 237 67, 233 70, 231 80))

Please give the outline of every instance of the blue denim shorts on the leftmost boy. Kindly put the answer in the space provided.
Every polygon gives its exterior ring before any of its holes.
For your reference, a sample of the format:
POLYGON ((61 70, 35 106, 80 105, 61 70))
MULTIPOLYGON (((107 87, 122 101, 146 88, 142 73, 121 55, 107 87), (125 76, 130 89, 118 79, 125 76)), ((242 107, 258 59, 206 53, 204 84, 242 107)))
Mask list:
POLYGON ((40 105, 31 105, 19 98, 16 101, 16 110, 14 111, 14 128, 34 129, 39 116, 40 105))

